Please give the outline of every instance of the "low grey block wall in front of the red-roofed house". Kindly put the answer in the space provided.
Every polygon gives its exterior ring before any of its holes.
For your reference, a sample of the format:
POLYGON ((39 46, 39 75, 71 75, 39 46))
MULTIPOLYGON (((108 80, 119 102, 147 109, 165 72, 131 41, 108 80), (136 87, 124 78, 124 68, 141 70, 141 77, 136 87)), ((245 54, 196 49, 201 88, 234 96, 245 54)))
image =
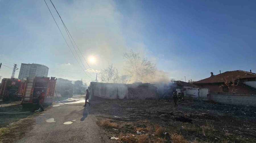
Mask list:
POLYGON ((241 94, 209 94, 209 101, 214 101, 222 104, 254 106, 256 107, 256 95, 241 95, 241 94))

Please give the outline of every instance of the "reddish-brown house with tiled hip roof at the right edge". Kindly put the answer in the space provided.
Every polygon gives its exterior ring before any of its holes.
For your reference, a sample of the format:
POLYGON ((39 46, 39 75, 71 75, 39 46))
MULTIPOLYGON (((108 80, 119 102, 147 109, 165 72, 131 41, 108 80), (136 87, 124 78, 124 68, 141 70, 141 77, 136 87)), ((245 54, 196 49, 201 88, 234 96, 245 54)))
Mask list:
POLYGON ((226 71, 218 75, 211 76, 196 81, 193 84, 199 88, 208 88, 210 94, 256 94, 256 73, 251 71, 235 70, 226 71), (234 81, 234 89, 231 85, 234 81), (224 82, 228 82, 230 86, 227 86, 224 82), (223 86, 222 86, 223 85, 223 86))

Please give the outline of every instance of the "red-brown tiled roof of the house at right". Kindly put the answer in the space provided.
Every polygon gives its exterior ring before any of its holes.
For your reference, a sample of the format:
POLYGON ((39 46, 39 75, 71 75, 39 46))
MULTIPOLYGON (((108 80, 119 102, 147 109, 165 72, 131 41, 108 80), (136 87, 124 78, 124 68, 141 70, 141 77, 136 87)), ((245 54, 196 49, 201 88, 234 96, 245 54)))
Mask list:
POLYGON ((256 73, 250 73, 248 71, 243 70, 235 70, 235 71, 226 71, 224 73, 220 73, 218 75, 213 75, 206 79, 202 79, 201 81, 196 81, 193 84, 199 83, 223 83, 225 78, 227 81, 232 81, 233 79, 245 79, 245 78, 256 78, 256 73))

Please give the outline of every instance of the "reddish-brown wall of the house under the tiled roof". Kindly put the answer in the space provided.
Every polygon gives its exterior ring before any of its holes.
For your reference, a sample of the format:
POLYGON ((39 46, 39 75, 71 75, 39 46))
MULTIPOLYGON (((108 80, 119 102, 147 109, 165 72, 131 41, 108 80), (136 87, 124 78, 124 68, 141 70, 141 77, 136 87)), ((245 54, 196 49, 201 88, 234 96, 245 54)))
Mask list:
MULTIPOLYGON (((224 83, 207 83, 207 84, 199 84, 199 88, 209 88, 210 94, 234 94, 232 92, 232 86, 230 86, 228 92, 222 91, 221 84, 224 83)), ((256 94, 255 91, 250 90, 249 88, 243 87, 241 85, 235 86, 234 89, 237 89, 235 94, 256 94)))

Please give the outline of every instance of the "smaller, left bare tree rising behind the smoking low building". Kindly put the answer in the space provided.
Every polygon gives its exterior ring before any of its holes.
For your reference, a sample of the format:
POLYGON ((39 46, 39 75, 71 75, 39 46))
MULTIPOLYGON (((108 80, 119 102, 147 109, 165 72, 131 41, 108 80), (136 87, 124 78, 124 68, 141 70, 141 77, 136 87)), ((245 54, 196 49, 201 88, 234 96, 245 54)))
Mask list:
POLYGON ((102 82, 106 83, 117 83, 119 77, 118 74, 119 72, 115 67, 113 67, 113 63, 108 63, 108 67, 101 70, 100 79, 102 82))

